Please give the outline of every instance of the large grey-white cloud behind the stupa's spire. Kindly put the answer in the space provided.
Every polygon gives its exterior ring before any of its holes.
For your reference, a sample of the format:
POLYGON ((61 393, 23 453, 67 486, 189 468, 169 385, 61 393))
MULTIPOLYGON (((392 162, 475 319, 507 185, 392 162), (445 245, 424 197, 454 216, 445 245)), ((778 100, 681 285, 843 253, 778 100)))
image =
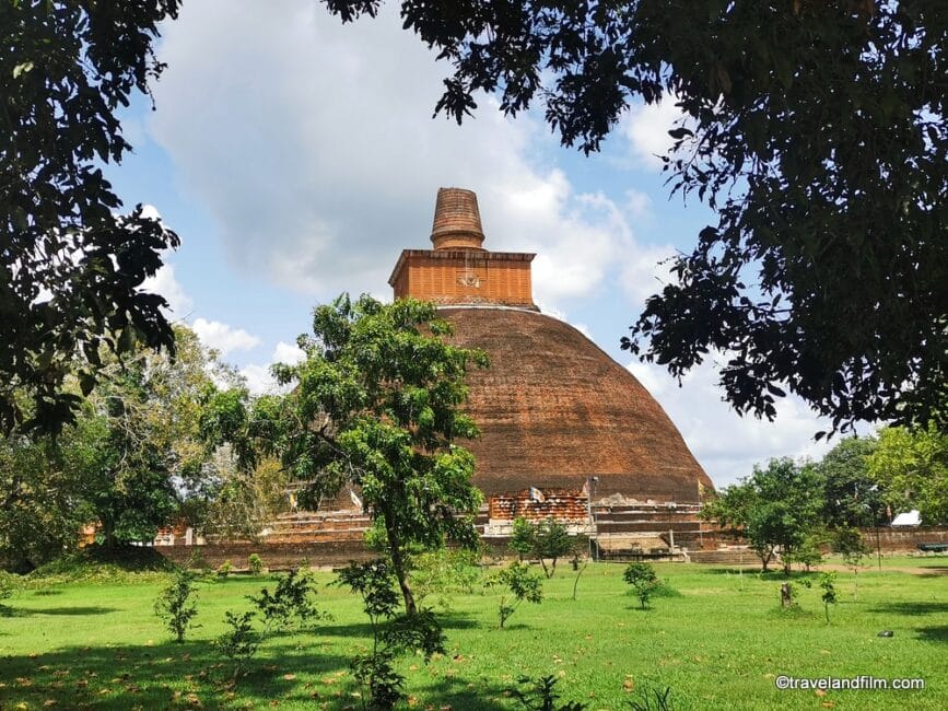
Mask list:
POLYGON ((576 191, 541 163, 541 121, 492 98, 461 128, 432 120, 447 68, 395 5, 343 26, 311 0, 209 0, 164 31, 150 130, 245 270, 320 299, 387 292, 399 252, 430 244, 436 189, 457 186, 478 193, 488 248, 538 254, 545 303, 618 273, 643 198, 576 191))

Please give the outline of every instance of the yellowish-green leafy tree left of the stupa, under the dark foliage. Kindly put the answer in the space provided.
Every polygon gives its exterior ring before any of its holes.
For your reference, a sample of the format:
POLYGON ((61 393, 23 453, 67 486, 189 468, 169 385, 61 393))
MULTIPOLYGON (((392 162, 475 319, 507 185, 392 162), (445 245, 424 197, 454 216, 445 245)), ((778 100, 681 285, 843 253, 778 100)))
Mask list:
POLYGON ((62 466, 102 524, 104 543, 150 540, 182 513, 197 524, 211 493, 200 403, 212 377, 230 377, 194 333, 176 327, 177 357, 139 351, 108 375, 60 440, 62 466))

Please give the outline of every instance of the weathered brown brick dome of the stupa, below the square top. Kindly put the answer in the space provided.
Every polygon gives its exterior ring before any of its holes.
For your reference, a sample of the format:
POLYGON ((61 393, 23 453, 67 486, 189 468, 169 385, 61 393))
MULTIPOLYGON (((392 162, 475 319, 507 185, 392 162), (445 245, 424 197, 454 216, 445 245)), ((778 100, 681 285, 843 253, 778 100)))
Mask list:
POLYGON ((540 489, 697 502, 711 480, 641 383, 578 330, 513 308, 446 307, 454 341, 482 348, 491 368, 467 377, 467 411, 481 429, 465 446, 489 497, 540 489))

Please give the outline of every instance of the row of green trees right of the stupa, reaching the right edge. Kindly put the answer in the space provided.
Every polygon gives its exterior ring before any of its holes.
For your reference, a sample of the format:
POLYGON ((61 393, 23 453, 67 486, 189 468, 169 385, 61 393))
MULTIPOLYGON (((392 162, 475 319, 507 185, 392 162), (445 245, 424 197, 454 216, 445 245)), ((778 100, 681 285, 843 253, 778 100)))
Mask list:
POLYGON ((844 439, 817 463, 771 459, 718 492, 702 516, 745 536, 764 570, 780 553, 789 571, 817 562, 824 546, 846 556, 858 548, 857 528, 909 510, 948 524, 948 435, 934 423, 844 439))

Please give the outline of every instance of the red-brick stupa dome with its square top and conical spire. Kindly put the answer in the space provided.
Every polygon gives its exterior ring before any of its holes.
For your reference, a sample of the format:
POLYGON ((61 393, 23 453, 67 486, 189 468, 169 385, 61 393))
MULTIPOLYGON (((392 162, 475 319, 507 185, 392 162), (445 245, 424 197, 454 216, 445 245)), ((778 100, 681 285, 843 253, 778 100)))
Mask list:
MULTIPOLYGON (((711 479, 642 384, 569 324, 540 313, 532 254, 483 247, 477 196, 441 188, 432 249, 401 253, 395 298, 440 305, 454 341, 485 350, 469 372, 465 442, 492 522, 517 515, 582 522, 593 504, 698 504, 711 479)), ((690 508, 690 506, 689 506, 690 508)))

